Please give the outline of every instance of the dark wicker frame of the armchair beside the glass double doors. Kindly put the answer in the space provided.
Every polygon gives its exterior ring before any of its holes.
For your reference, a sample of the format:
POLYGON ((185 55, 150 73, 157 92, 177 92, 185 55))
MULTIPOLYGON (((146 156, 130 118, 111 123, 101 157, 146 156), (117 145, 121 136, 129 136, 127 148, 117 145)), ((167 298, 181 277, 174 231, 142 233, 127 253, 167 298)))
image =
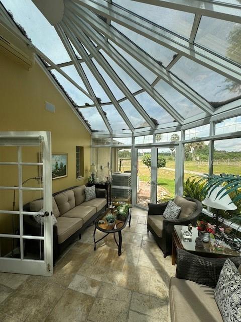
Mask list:
MULTIPOLYGON (((160 220, 161 221, 160 228, 153 227, 150 224, 150 220, 148 220, 147 222, 147 232, 149 232, 149 230, 151 231, 158 246, 163 251, 164 257, 166 257, 167 255, 170 255, 172 252, 172 233, 173 233, 174 225, 188 225, 189 223, 191 223, 192 225, 196 226, 197 218, 202 211, 202 204, 200 201, 194 198, 185 198, 185 199, 189 201, 193 201, 197 205, 196 210, 190 216, 185 218, 177 218, 177 219, 163 219, 162 217, 162 219, 160 220), (160 230, 159 235, 157 233, 157 229, 160 230)), ((164 210, 166 209, 167 204, 168 202, 164 202, 160 204, 148 203, 148 206, 149 206, 148 217, 152 215, 162 216, 164 213, 164 210)))

